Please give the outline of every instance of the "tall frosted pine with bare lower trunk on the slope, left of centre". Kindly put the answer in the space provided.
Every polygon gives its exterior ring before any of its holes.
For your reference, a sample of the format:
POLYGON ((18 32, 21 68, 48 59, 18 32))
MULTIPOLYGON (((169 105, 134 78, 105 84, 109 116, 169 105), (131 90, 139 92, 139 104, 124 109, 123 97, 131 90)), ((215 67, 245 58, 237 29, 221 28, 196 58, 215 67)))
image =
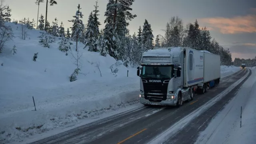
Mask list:
POLYGON ((74 20, 68 20, 69 22, 73 22, 73 26, 71 27, 72 34, 71 38, 72 40, 76 41, 76 51, 77 51, 77 43, 80 39, 80 36, 82 35, 82 32, 84 31, 84 24, 83 21, 79 18, 83 18, 84 15, 82 15, 82 12, 80 12, 80 4, 78 4, 78 10, 76 11, 76 15, 73 16, 75 18, 74 20))

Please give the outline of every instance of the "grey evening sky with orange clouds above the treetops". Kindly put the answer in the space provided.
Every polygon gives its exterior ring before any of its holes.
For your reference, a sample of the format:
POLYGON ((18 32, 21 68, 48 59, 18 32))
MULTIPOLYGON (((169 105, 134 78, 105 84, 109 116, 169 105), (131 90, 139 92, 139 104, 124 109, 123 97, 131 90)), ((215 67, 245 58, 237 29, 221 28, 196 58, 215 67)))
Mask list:
MULTIPOLYGON (((46 1, 46 0, 45 0, 46 1)), ((56 0, 57 5, 48 7, 48 20, 54 18, 63 22, 64 27, 71 27, 72 16, 77 6, 82 8, 84 24, 96 0, 56 0)), ((5 0, 12 9, 12 19, 37 18, 36 0, 5 0)), ((104 12, 108 0, 98 0, 100 10, 100 28, 104 28, 104 12)), ((46 2, 39 8, 39 16, 45 16, 46 2)), ((130 34, 143 26, 145 19, 151 24, 154 36, 164 35, 163 29, 172 16, 179 16, 184 26, 196 19, 200 27, 206 26, 212 38, 224 48, 229 48, 234 58, 254 58, 256 56, 256 0, 135 0, 132 14, 137 17, 130 21, 130 34)))

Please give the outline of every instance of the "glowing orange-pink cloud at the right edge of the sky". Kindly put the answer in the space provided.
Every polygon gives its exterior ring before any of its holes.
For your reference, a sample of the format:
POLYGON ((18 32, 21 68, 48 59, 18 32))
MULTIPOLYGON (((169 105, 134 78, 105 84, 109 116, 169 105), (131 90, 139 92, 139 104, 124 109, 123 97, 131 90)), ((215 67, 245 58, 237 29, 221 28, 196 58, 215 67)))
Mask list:
POLYGON ((218 29, 222 34, 254 33, 256 32, 256 15, 236 16, 233 18, 202 18, 200 21, 209 27, 218 29))

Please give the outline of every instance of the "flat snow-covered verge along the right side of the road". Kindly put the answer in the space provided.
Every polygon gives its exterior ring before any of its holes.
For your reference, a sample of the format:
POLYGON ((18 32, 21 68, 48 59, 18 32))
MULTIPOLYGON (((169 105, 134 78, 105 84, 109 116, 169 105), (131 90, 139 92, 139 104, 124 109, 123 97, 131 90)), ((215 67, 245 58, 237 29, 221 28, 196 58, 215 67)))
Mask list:
POLYGON ((256 142, 256 69, 236 96, 201 132, 196 144, 255 144, 256 142), (240 112, 242 106, 242 125, 240 112))

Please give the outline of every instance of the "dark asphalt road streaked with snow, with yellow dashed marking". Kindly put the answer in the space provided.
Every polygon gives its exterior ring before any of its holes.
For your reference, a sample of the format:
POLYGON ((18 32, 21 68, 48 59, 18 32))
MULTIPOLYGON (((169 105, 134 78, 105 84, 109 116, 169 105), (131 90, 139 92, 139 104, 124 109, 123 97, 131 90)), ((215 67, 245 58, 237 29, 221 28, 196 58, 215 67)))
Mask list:
MULTIPOLYGON (((200 131, 204 130, 211 118, 215 116, 232 98, 241 84, 248 78, 249 70, 240 70, 235 74, 222 78, 218 89, 208 90, 204 95, 196 95, 190 103, 184 103, 180 108, 170 107, 142 107, 134 109, 128 113, 121 113, 116 116, 105 118, 103 120, 80 126, 76 129, 57 134, 34 142, 33 144, 145 144, 157 139, 164 140, 165 143, 188 144, 196 141, 200 131), (241 78, 245 78, 242 80, 241 78), (240 80, 242 81, 240 83, 240 80), (239 82, 234 89, 230 89, 232 84, 239 82), (230 89, 229 91, 227 90, 230 89), (214 91, 214 92, 212 92, 214 91), (217 95, 226 91, 226 96, 220 96, 221 99, 216 103, 209 105, 217 95), (204 106, 208 104, 208 107, 204 106), (188 115, 204 110, 185 122, 188 115), (185 119, 184 119, 185 118, 185 119), (181 130, 174 128, 178 125, 184 125, 181 130), (173 127, 173 128, 172 128, 173 127), (168 130, 176 132, 168 135, 168 138, 157 138, 162 136, 162 132, 168 130), (170 137, 171 136, 171 137, 170 137)), ((153 142, 153 143, 154 143, 153 142)))

